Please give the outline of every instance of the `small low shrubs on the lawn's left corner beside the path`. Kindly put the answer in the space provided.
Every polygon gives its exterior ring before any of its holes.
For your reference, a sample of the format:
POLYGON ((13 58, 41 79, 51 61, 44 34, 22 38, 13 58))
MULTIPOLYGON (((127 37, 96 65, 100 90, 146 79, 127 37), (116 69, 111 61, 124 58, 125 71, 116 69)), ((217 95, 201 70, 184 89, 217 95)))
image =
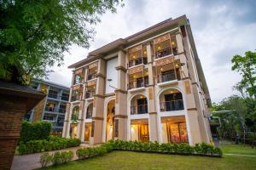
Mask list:
POLYGON ((49 153, 43 153, 40 156, 40 163, 41 166, 47 167, 50 162, 52 162, 53 165, 60 165, 63 163, 67 163, 68 161, 71 161, 73 159, 73 151, 68 150, 68 151, 56 151, 54 154, 49 154, 49 153))

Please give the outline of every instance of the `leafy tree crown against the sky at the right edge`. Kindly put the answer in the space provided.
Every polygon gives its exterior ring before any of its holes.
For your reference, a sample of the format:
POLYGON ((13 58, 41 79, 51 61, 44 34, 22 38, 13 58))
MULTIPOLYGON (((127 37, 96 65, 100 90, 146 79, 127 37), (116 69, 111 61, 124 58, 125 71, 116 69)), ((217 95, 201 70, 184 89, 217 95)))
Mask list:
POLYGON ((236 84, 236 89, 245 94, 243 89, 250 97, 256 99, 256 53, 247 51, 245 56, 235 55, 232 61, 232 71, 241 74, 241 82, 236 84))

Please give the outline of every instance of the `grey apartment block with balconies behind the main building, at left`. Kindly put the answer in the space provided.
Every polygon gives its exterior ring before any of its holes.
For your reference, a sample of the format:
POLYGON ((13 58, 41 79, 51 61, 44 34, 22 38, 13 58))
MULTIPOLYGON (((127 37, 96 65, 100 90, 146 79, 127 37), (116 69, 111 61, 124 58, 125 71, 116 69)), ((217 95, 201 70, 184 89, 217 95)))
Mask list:
POLYGON ((32 80, 31 87, 48 95, 32 111, 29 111, 24 119, 29 122, 52 122, 53 132, 61 133, 70 88, 54 82, 40 82, 37 80, 32 80))

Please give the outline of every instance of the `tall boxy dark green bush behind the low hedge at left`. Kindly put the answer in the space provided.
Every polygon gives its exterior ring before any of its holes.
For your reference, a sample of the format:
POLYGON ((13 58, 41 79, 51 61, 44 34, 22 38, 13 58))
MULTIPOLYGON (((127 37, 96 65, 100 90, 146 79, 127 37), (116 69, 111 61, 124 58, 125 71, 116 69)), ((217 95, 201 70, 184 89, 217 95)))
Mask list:
POLYGON ((30 140, 47 139, 51 130, 50 122, 22 122, 20 143, 30 140))

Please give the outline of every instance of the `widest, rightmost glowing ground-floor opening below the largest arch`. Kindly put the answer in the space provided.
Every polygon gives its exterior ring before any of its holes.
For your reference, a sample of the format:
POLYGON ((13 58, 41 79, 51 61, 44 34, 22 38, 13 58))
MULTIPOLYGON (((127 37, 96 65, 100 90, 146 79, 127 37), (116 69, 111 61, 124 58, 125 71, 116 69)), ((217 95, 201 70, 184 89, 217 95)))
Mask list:
POLYGON ((185 116, 161 117, 164 143, 188 143, 185 116))

